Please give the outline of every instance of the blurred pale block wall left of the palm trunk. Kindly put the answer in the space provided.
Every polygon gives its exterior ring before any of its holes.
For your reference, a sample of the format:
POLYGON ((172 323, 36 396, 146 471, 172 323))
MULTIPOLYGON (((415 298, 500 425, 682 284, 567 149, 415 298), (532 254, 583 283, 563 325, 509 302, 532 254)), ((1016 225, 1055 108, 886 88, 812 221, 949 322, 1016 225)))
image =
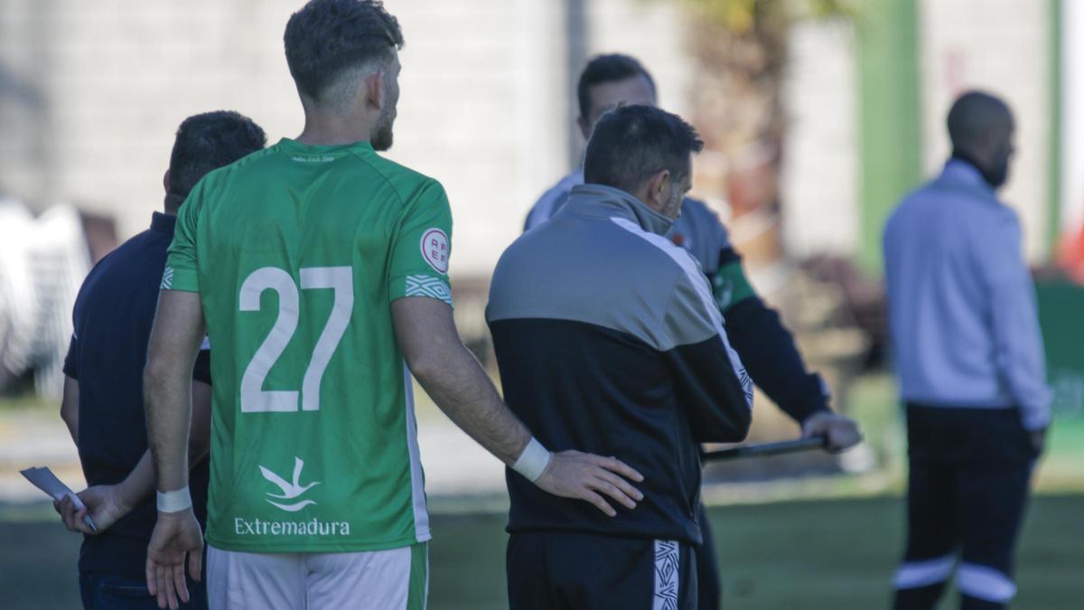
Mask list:
MULTIPOLYGON (((172 135, 185 116, 237 110, 271 142, 300 131, 282 31, 301 4, 0 0, 0 189, 39 211, 72 201, 113 215, 121 237, 142 230, 162 204, 172 135)), ((488 277, 530 204, 573 164, 581 142, 570 129, 571 84, 582 56, 641 56, 663 103, 685 107, 691 75, 670 3, 386 5, 406 39, 389 156, 447 187, 453 274, 488 277), (570 31, 570 11, 581 31, 570 31)))

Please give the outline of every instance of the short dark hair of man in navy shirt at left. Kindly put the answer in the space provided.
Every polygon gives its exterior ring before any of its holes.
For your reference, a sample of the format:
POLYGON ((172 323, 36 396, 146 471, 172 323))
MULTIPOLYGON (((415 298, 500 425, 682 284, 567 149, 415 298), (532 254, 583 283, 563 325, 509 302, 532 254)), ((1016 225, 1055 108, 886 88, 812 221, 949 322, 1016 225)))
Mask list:
POLYGON ((267 143, 263 129, 251 118, 233 111, 205 112, 190 116, 177 128, 169 155, 169 188, 166 206, 176 209, 208 171, 230 165, 267 143))

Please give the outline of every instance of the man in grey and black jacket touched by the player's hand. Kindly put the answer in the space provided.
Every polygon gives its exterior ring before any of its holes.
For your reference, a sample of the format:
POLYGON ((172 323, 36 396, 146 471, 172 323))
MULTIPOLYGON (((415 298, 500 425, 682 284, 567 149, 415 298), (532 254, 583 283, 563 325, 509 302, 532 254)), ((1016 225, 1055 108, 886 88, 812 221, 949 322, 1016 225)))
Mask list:
POLYGON ((586 183, 494 271, 487 318, 508 406, 547 447, 621 455, 645 475, 643 500, 615 518, 507 475, 513 609, 696 608, 698 443, 743 440, 752 406, 711 287, 662 237, 701 148, 661 110, 607 113, 586 183))

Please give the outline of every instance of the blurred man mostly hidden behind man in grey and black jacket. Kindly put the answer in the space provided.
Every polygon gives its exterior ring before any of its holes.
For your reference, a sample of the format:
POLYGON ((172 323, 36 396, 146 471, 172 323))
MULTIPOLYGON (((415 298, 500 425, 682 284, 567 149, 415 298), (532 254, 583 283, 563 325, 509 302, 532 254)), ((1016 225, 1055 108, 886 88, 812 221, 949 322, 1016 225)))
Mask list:
MULTIPOLYGON (((577 98, 577 125, 586 140, 598 118, 618 104, 656 105, 655 80, 633 58, 597 55, 580 74, 577 98)), ((531 207, 524 229, 529 231, 557 214, 572 188, 582 183, 582 169, 562 178, 531 207)), ((801 425, 803 436, 826 436, 833 452, 856 444, 861 440, 857 427, 831 412, 827 385, 821 376, 805 370, 790 332, 746 279, 741 257, 719 217, 702 202, 684 198, 681 215, 667 237, 688 251, 709 278, 715 306, 726 319, 726 333, 753 383, 801 425)), ((697 547, 700 608, 710 610, 719 606, 721 586, 707 512, 704 506, 698 510, 705 532, 704 545, 697 547)))

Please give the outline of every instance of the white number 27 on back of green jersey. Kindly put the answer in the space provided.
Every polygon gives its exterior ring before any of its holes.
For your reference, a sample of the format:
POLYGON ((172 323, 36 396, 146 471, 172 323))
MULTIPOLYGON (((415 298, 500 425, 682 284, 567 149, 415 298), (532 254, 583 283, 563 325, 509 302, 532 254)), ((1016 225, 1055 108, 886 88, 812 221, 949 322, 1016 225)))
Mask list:
MULTIPOLYGON (((301 290, 332 289, 335 304, 320 339, 312 348, 309 366, 301 381, 301 410, 320 410, 320 381, 327 363, 343 340, 353 310, 353 269, 350 267, 306 267, 301 269, 301 290)), ((258 312, 264 290, 279 293, 279 317, 267 339, 256 351, 241 378, 241 411, 296 411, 296 390, 263 390, 271 367, 289 343, 300 314, 300 295, 294 278, 278 267, 261 267, 241 284, 241 310, 258 312)))

